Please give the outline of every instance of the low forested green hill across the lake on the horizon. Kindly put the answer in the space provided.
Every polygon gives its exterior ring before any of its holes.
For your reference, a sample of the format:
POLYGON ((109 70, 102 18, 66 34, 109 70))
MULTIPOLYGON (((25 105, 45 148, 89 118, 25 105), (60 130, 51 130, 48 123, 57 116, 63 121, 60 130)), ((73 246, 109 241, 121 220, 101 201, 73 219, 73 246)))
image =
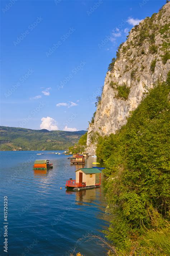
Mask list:
POLYGON ((0 126, 0 150, 65 150, 85 133, 0 126))

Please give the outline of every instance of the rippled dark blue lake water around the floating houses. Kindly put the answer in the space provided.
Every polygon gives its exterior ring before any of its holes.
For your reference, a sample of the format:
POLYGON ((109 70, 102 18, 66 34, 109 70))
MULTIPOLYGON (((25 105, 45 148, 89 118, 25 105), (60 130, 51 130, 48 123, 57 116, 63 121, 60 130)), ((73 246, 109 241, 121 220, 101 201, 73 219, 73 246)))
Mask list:
MULTIPOLYGON (((91 190, 66 191, 65 181, 75 178, 75 170, 65 155, 36 155, 39 151, 1 152, 0 216, 3 254, 3 197, 8 196, 9 255, 105 255, 93 241, 85 242, 86 234, 100 234, 107 226, 105 219, 104 178, 101 187, 91 190), (36 159, 49 159, 53 169, 33 170, 36 159), (62 187, 62 189, 60 189, 62 187), (78 242, 77 242, 78 241, 78 242), (22 254, 23 253, 23 254, 22 254)), ((62 151, 60 151, 62 152, 62 151)), ((89 158, 86 167, 91 167, 89 158)))

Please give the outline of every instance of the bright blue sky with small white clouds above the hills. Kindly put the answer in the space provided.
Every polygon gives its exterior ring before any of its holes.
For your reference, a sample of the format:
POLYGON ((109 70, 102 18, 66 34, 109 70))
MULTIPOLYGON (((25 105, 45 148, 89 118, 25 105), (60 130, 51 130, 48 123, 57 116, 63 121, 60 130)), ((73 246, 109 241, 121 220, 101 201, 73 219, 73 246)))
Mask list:
POLYGON ((117 47, 165 2, 1 1, 1 125, 85 130, 117 47))

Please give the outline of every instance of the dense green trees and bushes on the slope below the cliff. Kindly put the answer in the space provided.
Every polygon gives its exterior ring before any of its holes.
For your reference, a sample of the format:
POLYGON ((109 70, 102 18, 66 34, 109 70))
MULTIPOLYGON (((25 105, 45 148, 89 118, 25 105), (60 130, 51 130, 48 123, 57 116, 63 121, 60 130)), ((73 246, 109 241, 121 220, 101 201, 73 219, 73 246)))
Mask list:
POLYGON ((99 137, 96 154, 108 176, 107 238, 118 255, 170 255, 169 93, 158 81, 121 130, 99 137))

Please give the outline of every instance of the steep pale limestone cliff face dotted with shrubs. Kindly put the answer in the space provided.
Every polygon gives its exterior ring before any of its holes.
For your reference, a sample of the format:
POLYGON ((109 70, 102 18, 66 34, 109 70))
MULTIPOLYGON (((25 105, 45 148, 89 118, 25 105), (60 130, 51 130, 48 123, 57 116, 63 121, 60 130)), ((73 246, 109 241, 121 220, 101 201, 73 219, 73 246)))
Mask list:
POLYGON ((170 70, 169 14, 170 2, 159 13, 132 28, 127 41, 121 45, 114 68, 105 77, 94 123, 89 124, 89 154, 95 154, 98 135, 109 135, 120 129, 129 113, 140 104, 143 92, 152 88, 158 79, 166 80, 170 70), (130 89, 127 100, 118 95, 117 88, 122 85, 130 89))

